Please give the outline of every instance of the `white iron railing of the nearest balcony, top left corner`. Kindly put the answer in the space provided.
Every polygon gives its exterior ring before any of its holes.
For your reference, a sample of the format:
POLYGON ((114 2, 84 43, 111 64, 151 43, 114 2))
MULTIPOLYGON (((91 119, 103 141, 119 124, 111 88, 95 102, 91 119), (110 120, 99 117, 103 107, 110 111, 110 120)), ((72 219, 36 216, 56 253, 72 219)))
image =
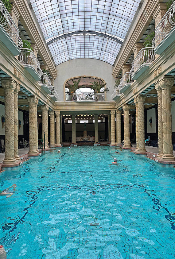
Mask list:
POLYGON ((12 17, 7 11, 6 7, 0 0, 0 25, 5 29, 10 38, 14 41, 14 43, 18 46, 18 48, 22 48, 22 40, 19 37, 19 29, 14 23, 12 17))

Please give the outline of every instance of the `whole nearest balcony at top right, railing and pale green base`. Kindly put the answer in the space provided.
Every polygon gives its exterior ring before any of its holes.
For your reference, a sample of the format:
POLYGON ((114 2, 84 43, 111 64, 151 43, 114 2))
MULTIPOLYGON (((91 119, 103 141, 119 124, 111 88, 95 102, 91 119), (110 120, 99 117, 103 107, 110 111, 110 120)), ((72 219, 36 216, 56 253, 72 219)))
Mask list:
POLYGON ((166 12, 157 27, 152 45, 154 52, 161 54, 175 40, 175 2, 166 12))

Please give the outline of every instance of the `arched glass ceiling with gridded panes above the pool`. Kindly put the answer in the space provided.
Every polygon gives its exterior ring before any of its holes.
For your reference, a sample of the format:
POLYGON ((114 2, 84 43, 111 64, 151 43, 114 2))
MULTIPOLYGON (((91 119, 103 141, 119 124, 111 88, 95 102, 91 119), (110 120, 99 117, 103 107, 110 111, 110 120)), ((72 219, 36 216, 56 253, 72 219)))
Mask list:
POLYGON ((76 58, 95 58, 114 64, 121 44, 92 31, 124 39, 140 0, 30 0, 45 40, 58 65, 76 58), (66 33, 74 33, 66 37, 66 33), (91 31, 91 33, 87 33, 91 31))

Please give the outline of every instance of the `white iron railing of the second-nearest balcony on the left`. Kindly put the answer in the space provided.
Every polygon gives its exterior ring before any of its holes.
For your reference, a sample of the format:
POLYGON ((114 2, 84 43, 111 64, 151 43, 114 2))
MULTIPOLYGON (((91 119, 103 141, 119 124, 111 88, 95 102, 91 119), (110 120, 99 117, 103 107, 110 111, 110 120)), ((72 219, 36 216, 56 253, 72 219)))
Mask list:
POLYGON ((21 54, 19 55, 19 60, 22 64, 31 65, 39 76, 42 75, 42 70, 40 68, 40 62, 37 60, 33 51, 29 48, 21 48, 21 54))

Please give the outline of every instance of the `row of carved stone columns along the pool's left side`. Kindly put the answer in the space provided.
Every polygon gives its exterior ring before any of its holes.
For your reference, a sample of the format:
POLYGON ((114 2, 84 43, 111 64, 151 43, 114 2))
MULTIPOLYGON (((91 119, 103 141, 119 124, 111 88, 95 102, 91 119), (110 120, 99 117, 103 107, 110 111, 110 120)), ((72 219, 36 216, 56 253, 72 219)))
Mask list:
MULTIPOLYGON (((5 104, 5 158, 4 165, 19 164, 21 159, 18 154, 18 93, 20 85, 13 79, 1 79, 4 89, 5 104)), ((29 103, 29 156, 39 155, 38 150, 38 119, 37 104, 35 96, 28 97, 29 103)), ((45 150, 49 150, 48 145, 48 110, 44 105, 42 110, 42 132, 45 132, 45 150)), ((55 112, 50 114, 50 147, 61 147, 60 145, 60 111, 56 111, 56 144, 55 144, 55 112)))

